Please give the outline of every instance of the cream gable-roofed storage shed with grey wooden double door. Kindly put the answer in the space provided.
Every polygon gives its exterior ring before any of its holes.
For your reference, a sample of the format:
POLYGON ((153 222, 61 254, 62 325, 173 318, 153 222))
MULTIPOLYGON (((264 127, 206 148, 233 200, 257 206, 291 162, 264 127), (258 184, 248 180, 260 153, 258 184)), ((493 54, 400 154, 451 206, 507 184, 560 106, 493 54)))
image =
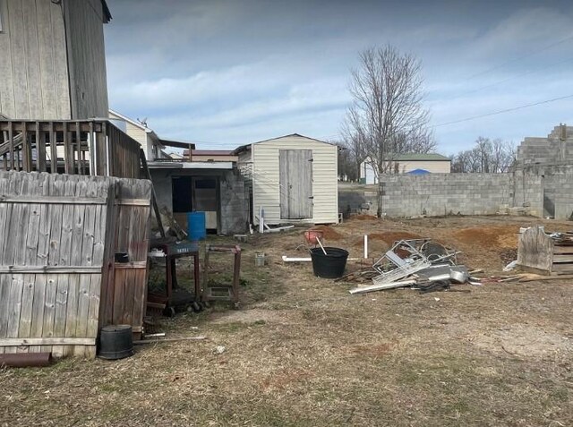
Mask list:
POLYGON ((338 223, 338 146, 298 133, 235 149, 252 183, 251 216, 265 223, 338 223))

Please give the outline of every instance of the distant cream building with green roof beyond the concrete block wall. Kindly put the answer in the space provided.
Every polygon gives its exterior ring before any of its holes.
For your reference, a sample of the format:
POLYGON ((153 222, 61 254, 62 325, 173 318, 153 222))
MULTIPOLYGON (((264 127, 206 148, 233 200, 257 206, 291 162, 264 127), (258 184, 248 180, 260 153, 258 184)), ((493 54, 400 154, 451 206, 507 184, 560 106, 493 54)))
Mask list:
MULTIPOLYGON (((400 154, 393 160, 391 174, 449 174, 451 160, 438 153, 400 154)), ((378 174, 375 172, 375 161, 366 158, 360 164, 360 182, 363 184, 378 184, 378 174)))

